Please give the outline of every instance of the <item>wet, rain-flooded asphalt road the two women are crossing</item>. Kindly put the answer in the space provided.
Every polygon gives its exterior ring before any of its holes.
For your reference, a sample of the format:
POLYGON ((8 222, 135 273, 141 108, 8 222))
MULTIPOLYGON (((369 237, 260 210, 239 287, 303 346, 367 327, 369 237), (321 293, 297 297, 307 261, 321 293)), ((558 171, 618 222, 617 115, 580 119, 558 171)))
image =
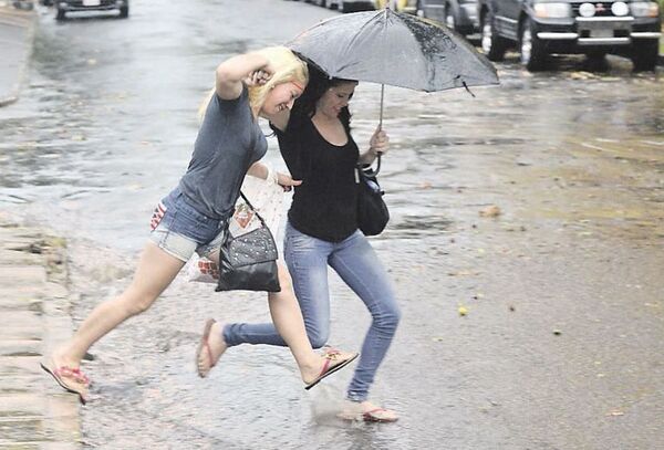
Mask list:
MULTIPOLYGON (((152 208, 186 168, 218 62, 331 14, 194 0, 135 2, 128 20, 42 17, 31 85, 0 109, 0 207, 70 239, 76 321, 127 284, 152 208)), ((280 348, 235 348, 199 380, 205 318, 267 320, 267 306, 180 278, 93 347, 85 447, 656 448, 664 80, 609 65, 588 73, 561 59, 532 75, 511 57, 501 86, 476 98, 386 90, 393 219, 373 242, 404 314, 372 396, 397 423, 335 419, 350 371, 305 393, 280 348), (480 213, 491 206, 501 213, 480 213)), ((359 143, 378 96, 366 84, 353 100, 359 143)), ((332 290, 332 343, 359 348, 367 314, 336 278, 332 290)))

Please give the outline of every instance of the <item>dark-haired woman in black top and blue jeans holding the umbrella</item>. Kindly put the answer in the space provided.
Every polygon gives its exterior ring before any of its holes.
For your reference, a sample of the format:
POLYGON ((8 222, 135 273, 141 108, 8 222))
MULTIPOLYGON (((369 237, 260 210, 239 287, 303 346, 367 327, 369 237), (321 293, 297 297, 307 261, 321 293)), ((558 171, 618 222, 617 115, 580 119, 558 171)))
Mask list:
MULTIPOLYGON (((395 421, 394 411, 369 401, 369 389, 400 321, 400 308, 387 273, 369 240, 357 229, 359 185, 355 167, 371 164, 387 151, 388 139, 376 129, 369 149, 360 151, 351 135, 349 101, 357 82, 328 79, 310 67, 310 80, 292 111, 267 118, 278 139, 293 179, 292 206, 288 212, 284 255, 314 348, 325 345, 330 334, 328 265, 360 296, 372 315, 360 362, 346 398, 356 402, 367 421, 395 421)), ((283 345, 272 324, 230 324, 226 344, 283 345)), ((350 408, 351 409, 351 408, 350 408)))

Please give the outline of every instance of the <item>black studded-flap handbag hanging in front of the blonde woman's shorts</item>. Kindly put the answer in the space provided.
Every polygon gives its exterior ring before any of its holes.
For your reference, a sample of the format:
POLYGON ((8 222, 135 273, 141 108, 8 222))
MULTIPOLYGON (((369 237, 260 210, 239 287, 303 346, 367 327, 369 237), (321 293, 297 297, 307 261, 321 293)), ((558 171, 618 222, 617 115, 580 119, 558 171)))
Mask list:
POLYGON ((277 268, 277 244, 266 221, 240 191, 247 206, 260 220, 260 227, 232 237, 226 226, 226 237, 219 250, 219 282, 216 291, 280 292, 277 268))

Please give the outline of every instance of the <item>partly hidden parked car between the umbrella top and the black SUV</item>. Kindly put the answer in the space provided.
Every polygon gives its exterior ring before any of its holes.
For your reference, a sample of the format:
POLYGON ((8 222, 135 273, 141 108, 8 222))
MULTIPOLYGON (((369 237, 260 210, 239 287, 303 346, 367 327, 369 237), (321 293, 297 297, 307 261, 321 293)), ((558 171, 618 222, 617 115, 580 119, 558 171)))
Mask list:
POLYGON ((464 35, 479 31, 477 0, 419 0, 417 15, 444 23, 464 35))

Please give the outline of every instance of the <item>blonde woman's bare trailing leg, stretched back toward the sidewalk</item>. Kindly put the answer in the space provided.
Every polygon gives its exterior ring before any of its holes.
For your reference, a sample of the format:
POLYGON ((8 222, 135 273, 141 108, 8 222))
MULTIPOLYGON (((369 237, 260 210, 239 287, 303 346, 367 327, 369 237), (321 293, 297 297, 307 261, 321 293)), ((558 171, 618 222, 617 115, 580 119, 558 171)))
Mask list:
POLYGON ((125 320, 146 311, 168 287, 185 263, 153 242, 141 255, 132 284, 117 297, 97 305, 52 359, 56 367, 79 367, 85 352, 125 320))

